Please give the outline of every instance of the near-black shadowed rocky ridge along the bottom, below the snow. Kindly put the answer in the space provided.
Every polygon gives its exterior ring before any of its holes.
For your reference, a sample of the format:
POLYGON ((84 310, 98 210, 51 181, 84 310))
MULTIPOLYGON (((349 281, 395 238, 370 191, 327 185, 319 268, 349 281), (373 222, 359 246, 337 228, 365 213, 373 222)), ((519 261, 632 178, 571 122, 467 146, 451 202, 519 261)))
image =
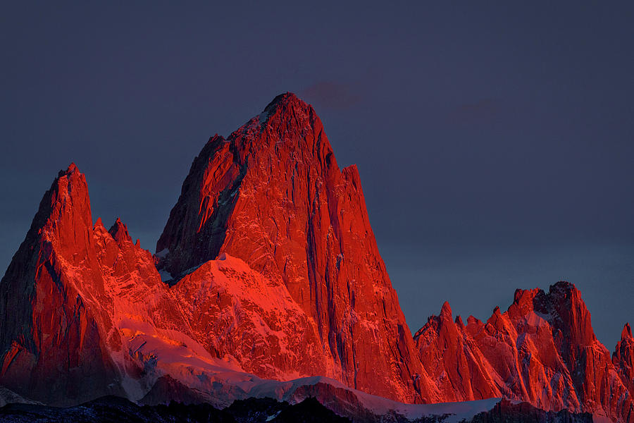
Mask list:
MULTIPOLYGON (((367 416, 366 416, 367 417, 367 416)), ((592 423, 589 413, 574 415, 567 410, 546 412, 528 403, 514 404, 508 400, 497 403, 491 410, 466 419, 453 416, 429 415, 415 420, 402 415, 374 415, 368 422, 416 423, 592 423)), ((13 403, 0 408, 0 419, 7 423, 66 423, 66 422, 131 422, 131 423, 345 423, 358 417, 342 417, 322 405, 316 398, 306 398, 291 405, 272 398, 236 400, 229 407, 218 409, 207 403, 182 404, 174 401, 160 405, 137 405, 116 396, 106 396, 74 407, 13 403)))

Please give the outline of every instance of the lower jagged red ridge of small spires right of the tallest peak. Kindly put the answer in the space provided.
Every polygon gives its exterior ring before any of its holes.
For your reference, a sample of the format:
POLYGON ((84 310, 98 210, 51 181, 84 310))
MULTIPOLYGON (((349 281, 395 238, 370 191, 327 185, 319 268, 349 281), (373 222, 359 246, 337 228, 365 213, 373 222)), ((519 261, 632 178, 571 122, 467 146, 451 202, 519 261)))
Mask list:
POLYGON ((594 412, 632 420, 629 326, 613 362, 592 331, 590 312, 574 285, 516 290, 509 309, 486 323, 454 321, 449 304, 414 338, 423 366, 446 400, 504 396, 544 410, 594 412), (629 385, 628 385, 629 383, 629 385))

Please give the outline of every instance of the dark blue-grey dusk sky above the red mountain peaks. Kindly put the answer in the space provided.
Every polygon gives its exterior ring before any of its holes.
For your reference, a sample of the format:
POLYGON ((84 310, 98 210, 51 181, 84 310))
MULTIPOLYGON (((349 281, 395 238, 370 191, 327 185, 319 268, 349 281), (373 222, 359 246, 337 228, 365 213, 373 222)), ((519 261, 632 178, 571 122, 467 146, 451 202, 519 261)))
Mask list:
POLYGON ((70 161, 93 218, 154 252, 208 137, 292 91, 358 164, 413 331, 561 279, 610 350, 634 323, 631 2, 20 3, 0 10, 2 269, 70 161))

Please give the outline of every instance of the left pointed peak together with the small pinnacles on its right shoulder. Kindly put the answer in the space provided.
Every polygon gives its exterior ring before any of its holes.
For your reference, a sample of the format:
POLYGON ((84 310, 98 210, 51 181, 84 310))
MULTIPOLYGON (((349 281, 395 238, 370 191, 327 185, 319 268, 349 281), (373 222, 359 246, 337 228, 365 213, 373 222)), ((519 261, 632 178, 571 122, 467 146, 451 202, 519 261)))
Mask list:
POLYGON ((122 320, 169 311, 166 292, 123 223, 93 227, 85 176, 71 164, 0 282, 0 384, 56 405, 125 396, 125 375, 141 364, 128 354, 122 320))

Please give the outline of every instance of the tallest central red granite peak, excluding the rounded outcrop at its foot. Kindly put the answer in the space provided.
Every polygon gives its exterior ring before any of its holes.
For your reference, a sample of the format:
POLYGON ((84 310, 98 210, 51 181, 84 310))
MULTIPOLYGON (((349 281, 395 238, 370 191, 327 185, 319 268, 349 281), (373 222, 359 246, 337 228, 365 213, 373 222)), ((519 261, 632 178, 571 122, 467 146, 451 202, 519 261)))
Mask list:
MULTIPOLYGON (((315 358, 299 374, 406 402, 440 400, 379 255, 359 173, 340 170, 320 119, 294 94, 227 140, 209 140, 156 250, 173 276, 225 253, 281 283, 316 328, 315 358)), ((286 359, 272 353, 280 367, 286 359)))

